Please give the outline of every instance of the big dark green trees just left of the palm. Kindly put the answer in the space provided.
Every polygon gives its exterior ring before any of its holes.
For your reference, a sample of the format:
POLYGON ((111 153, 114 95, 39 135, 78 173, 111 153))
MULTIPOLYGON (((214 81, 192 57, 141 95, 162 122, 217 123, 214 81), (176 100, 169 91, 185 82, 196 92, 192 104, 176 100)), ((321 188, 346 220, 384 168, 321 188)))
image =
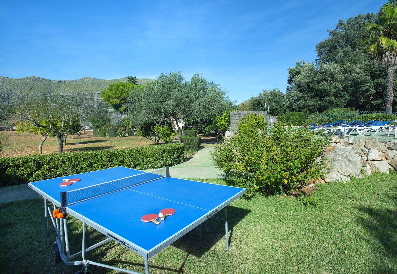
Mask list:
POLYGON ((302 60, 289 68, 284 96, 287 112, 307 114, 335 107, 384 109, 385 70, 362 44, 364 26, 374 22, 376 15, 370 13, 339 20, 329 37, 316 45, 316 62, 302 60))

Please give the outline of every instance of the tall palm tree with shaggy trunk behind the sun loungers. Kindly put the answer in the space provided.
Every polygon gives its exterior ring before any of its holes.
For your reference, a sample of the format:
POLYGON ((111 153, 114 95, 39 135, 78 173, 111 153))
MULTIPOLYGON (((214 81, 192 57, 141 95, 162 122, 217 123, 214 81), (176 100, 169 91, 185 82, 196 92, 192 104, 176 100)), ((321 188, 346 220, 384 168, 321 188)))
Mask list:
POLYGON ((363 43, 370 44, 367 48, 368 55, 376 58, 378 66, 387 71, 385 102, 386 112, 391 113, 394 71, 397 68, 397 6, 385 4, 379 13, 378 24, 365 25, 366 35, 363 37, 363 43))

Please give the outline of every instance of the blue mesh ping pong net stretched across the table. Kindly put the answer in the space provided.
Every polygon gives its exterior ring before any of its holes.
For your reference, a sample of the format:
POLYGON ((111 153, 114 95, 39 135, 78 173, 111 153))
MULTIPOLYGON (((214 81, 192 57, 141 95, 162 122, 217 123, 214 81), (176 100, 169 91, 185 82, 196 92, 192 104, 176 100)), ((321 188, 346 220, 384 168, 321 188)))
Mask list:
POLYGON ((61 192, 61 207, 76 204, 85 200, 103 196, 112 192, 142 185, 151 181, 155 181, 170 176, 168 167, 144 172, 129 177, 124 177, 96 185, 86 186, 83 188, 61 192))

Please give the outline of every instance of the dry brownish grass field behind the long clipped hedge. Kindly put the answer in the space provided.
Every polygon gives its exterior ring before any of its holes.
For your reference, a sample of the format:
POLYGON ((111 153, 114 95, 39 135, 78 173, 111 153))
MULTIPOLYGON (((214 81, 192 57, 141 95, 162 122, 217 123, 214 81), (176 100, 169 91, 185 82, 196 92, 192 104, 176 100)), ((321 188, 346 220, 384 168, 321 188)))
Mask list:
MULTIPOLYGON (((8 148, 2 150, 1 157, 23 156, 39 153, 39 143, 41 137, 33 133, 19 134, 16 131, 7 131, 8 148)), ((64 152, 100 150, 107 148, 130 148, 143 147, 153 142, 145 137, 112 137, 110 141, 107 137, 94 137, 92 131, 86 130, 85 133, 71 135, 66 140, 64 152)), ((43 144, 43 154, 58 152, 58 139, 47 138, 43 144)))

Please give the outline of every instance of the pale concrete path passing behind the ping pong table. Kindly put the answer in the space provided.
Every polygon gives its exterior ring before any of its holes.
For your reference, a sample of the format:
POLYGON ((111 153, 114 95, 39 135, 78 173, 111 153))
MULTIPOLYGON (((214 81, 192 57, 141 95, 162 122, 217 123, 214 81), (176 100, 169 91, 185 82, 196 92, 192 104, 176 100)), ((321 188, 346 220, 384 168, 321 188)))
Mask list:
MULTIPOLYGON (((176 178, 192 179, 219 178, 221 171, 214 167, 214 163, 210 160, 210 151, 213 150, 213 147, 200 149, 189 161, 170 167, 170 175, 176 178)), ((39 197, 40 195, 27 184, 0 188, 0 203, 39 197)))

